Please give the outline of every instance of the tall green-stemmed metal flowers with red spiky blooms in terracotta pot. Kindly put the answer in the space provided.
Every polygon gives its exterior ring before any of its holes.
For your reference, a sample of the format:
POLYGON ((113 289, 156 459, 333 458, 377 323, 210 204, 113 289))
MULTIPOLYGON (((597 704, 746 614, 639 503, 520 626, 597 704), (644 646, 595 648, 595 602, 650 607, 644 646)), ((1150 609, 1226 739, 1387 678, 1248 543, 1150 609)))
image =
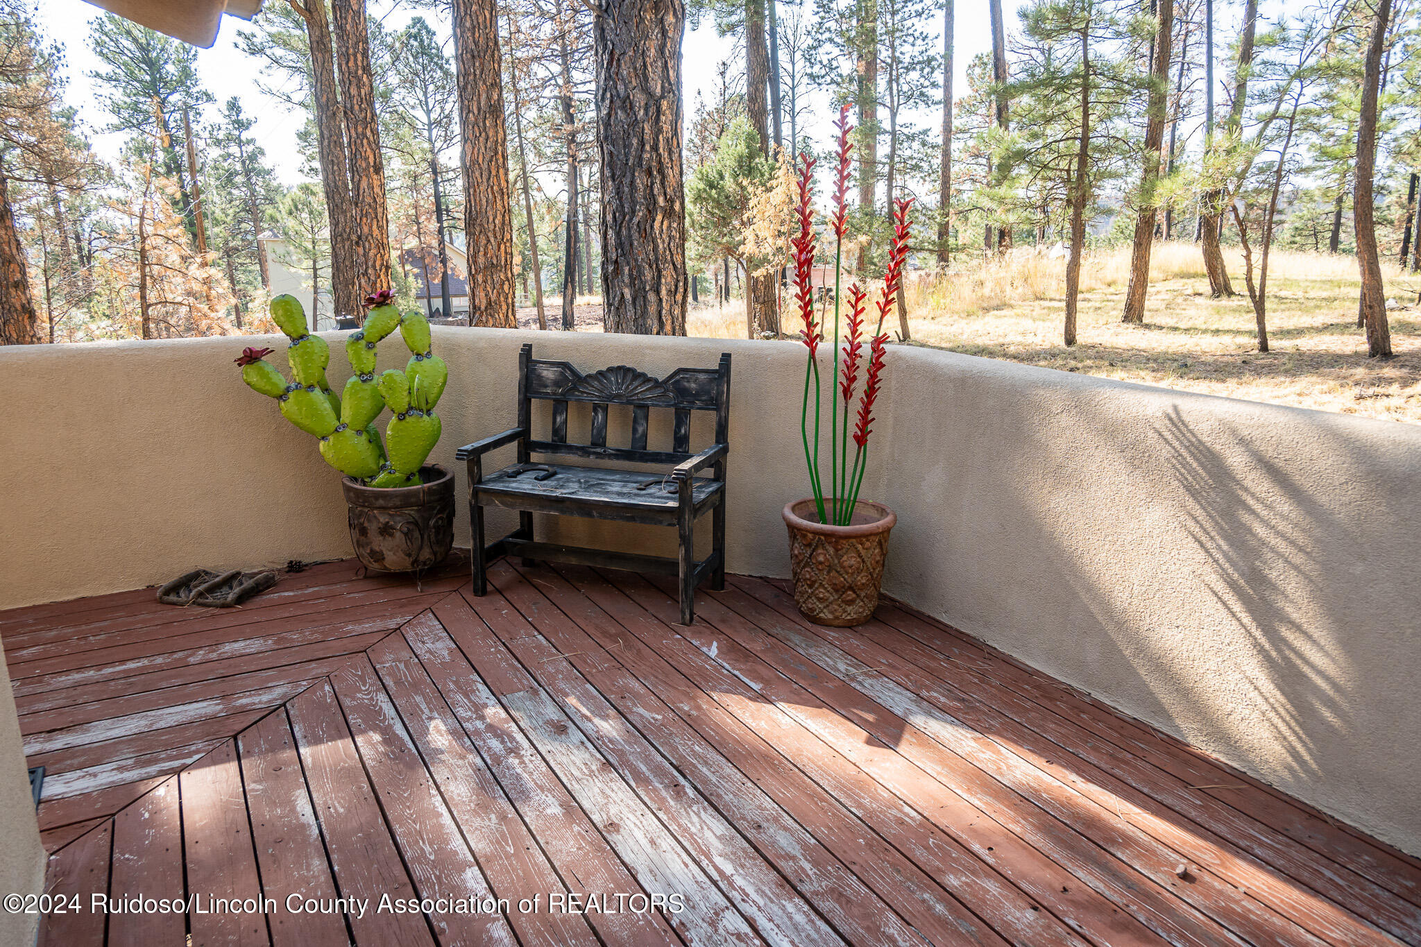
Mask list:
POLYGON ((851 170, 853 143, 848 136, 853 125, 848 124, 848 106, 838 111, 834 122, 838 132, 838 166, 834 169, 834 216, 830 229, 834 233, 834 300, 833 315, 826 315, 826 321, 833 319, 834 325, 834 371, 830 375, 830 470, 828 493, 826 496, 823 469, 820 464, 820 417, 823 409, 821 379, 818 373, 818 344, 824 339, 823 327, 814 319, 813 310, 813 271, 814 271, 814 210, 810 204, 811 173, 814 160, 807 155, 800 155, 799 202, 796 206, 796 220, 799 233, 791 239, 790 246, 794 256, 794 301, 799 305, 804 328, 800 335, 809 349, 804 366, 804 400, 800 406, 800 436, 804 442, 804 463, 809 467, 810 486, 814 490, 814 504, 820 522, 834 525, 848 525, 854 515, 854 505, 858 501, 858 490, 864 483, 864 473, 868 467, 868 437, 872 434, 874 403, 882 388, 884 359, 887 355, 888 335, 884 332, 884 321, 892 311, 902 288, 902 267, 908 258, 908 237, 911 224, 908 209, 912 199, 894 202, 894 236, 888 250, 888 266, 884 271, 882 290, 874 301, 878 310, 878 322, 868 341, 868 371, 864 376, 864 386, 858 392, 858 410, 853 433, 850 433, 850 419, 855 416, 851 410, 854 392, 858 388, 858 366, 864 348, 864 312, 867 310, 868 292, 857 283, 848 287, 847 312, 848 335, 844 339, 843 352, 838 346, 838 314, 841 311, 840 274, 843 267, 844 236, 848 230, 848 179, 851 170), (840 365, 843 358, 843 365, 840 365), (813 443, 809 434, 809 392, 813 382, 814 389, 814 436, 813 443), (836 398, 834 383, 838 392, 836 398), (844 419, 840 422, 838 410, 843 402, 844 419), (850 461, 848 442, 854 442, 854 457, 850 461))

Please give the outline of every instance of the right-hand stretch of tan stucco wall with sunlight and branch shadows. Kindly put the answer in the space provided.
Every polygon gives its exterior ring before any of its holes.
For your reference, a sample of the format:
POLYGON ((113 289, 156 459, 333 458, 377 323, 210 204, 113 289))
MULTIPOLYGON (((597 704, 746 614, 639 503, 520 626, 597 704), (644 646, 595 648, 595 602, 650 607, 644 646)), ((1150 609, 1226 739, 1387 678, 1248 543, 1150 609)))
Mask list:
POLYGON ((888 593, 1415 848, 1421 437, 941 354, 890 383, 888 593))

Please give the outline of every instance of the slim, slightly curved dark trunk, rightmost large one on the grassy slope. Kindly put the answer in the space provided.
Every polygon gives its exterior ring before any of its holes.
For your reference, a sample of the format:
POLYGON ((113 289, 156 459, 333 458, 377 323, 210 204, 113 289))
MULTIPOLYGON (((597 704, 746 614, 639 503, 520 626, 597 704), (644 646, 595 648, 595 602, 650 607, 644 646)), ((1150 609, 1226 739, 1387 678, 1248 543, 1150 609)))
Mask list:
POLYGON ((1391 355, 1391 328, 1381 287, 1381 260, 1377 251, 1371 175, 1377 162, 1377 94, 1381 81, 1381 53, 1387 41, 1391 0, 1378 0, 1371 16, 1366 71, 1361 85, 1361 112, 1357 116, 1357 175, 1353 183, 1351 220, 1357 231, 1357 268, 1361 270, 1361 314, 1367 322, 1368 358, 1391 355))

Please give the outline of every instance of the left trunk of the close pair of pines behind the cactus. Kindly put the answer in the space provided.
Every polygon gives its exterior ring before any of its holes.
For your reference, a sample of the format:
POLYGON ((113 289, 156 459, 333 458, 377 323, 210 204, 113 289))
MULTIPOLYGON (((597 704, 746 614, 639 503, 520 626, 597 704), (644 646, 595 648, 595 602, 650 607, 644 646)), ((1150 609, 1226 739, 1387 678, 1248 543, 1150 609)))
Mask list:
MULTIPOLYGON (((311 50, 317 155, 321 165, 321 189, 325 193, 325 216, 331 234, 331 304, 337 318, 361 319, 364 294, 360 290, 360 274, 355 267, 350 159, 345 152, 345 114, 335 82, 331 23, 325 16, 325 3, 320 0, 290 0, 290 3, 291 9, 306 21, 306 37, 311 50)), ((247 200, 253 227, 256 227, 256 195, 249 193, 247 200)), ((261 257, 260 253, 257 256, 261 257)), ((270 285, 266 275, 263 275, 263 281, 270 285)))

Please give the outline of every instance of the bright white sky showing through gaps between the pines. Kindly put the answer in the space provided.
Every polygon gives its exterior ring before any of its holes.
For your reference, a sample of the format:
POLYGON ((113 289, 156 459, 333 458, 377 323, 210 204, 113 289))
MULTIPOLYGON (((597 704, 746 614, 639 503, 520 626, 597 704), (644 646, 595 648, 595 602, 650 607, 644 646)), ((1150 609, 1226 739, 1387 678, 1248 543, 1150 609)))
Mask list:
MULTIPOLYGON (((284 0, 266 1, 283 3, 284 0)), ((78 108, 80 119, 85 125, 85 133, 92 142, 94 150, 101 158, 112 160, 122 148, 124 135, 102 132, 109 116, 98 106, 95 82, 90 78, 90 74, 102 65, 88 47, 90 26, 102 16, 102 11, 84 0, 45 0, 38 6, 41 27, 53 40, 64 45, 65 65, 63 72, 67 82, 64 98, 70 105, 78 108)), ((423 16, 436 33, 445 38, 449 35, 448 21, 435 11, 411 9, 398 0, 371 0, 369 10, 374 16, 381 17, 389 30, 401 28, 415 16, 423 16)), ((1015 21, 1010 13, 1007 18, 1015 21)), ((306 122, 306 116, 257 89, 259 64, 236 47, 237 31, 243 28, 250 30, 252 27, 232 17, 223 20, 222 31, 213 47, 198 51, 199 74, 219 102, 232 95, 242 98, 246 111, 257 121, 253 135, 266 148, 277 176, 286 185, 296 185, 304 180, 300 172, 301 159, 296 148, 296 132, 306 122)), ((1010 23, 1007 28, 1010 30, 1010 23)), ((936 37, 936 48, 941 48, 941 14, 932 23, 932 31, 936 37)), ((968 62, 978 53, 990 50, 986 3, 956 4, 953 45, 953 88, 966 89, 968 62)), ((686 31, 682 41, 682 99, 688 121, 695 114, 698 92, 702 92, 708 101, 713 99, 716 65, 730 53, 732 40, 718 37, 709 18, 699 28, 686 31)), ((814 138, 818 142, 827 142, 831 133, 828 125, 833 118, 828 102, 823 97, 811 98, 811 102, 817 116, 817 121, 811 122, 817 132, 814 138)), ((935 129, 941 119, 936 115, 922 115, 919 121, 935 129)))

